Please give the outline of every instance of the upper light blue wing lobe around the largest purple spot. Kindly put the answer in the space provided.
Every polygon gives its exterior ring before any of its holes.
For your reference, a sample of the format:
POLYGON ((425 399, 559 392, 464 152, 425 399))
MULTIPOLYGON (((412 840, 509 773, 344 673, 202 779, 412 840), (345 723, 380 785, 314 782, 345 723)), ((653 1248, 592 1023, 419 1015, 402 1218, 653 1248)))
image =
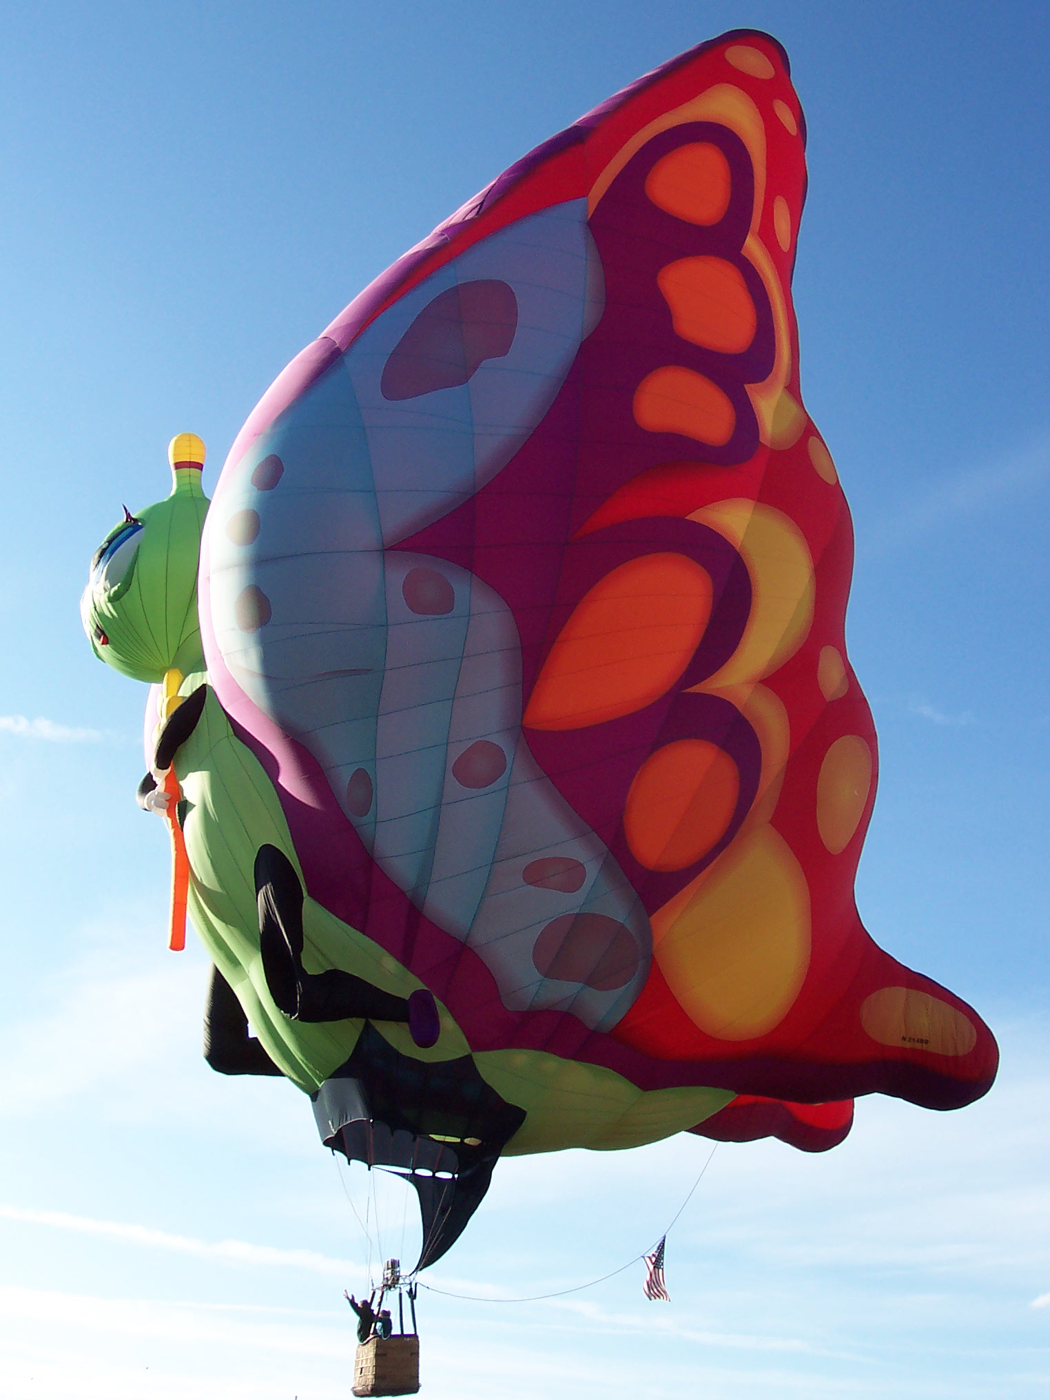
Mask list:
MULTIPOLYGON (((454 510, 510 462, 553 403, 602 309, 587 202, 571 200, 469 248, 368 326, 344 358, 386 545, 454 510), (500 297, 500 287, 510 295, 500 297), (440 379, 440 367, 431 365, 435 374, 428 378, 427 365, 419 364, 416 384, 402 372, 392 385, 388 365, 417 318, 456 291, 472 337, 480 342, 477 353, 493 356, 465 382, 400 396, 440 379), (484 291, 487 298, 479 295, 484 291), (475 307, 466 304, 472 293, 475 307), (508 329, 512 336, 501 336, 508 329), (392 392, 399 396, 389 398, 392 392)), ((413 349, 405 347, 409 363, 413 349)), ((461 353, 454 344, 452 354, 461 353)), ((466 353, 469 358, 469 347, 466 353)))

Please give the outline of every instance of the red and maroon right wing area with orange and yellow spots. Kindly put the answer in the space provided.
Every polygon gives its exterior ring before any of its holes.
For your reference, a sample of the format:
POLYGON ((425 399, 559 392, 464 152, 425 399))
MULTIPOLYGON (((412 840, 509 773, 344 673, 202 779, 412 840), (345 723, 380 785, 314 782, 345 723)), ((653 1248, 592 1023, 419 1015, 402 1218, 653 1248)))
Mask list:
POLYGON ((585 168, 605 315, 533 440, 413 545, 469 547, 511 602, 528 742, 645 903, 654 966, 613 1036, 784 1098, 966 1102, 994 1040, 854 906, 876 741, 846 655, 850 514, 798 379, 783 57, 732 36, 570 153, 540 169, 578 193, 585 168))

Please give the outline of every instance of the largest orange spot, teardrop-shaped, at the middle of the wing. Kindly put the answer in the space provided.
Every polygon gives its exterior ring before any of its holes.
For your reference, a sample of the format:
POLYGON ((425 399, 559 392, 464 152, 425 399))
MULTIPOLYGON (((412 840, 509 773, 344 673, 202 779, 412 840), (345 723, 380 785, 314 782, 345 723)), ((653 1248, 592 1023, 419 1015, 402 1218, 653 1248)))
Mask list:
POLYGON ((711 615, 711 580, 685 554, 613 568, 577 603, 543 664, 525 724, 575 729, 652 704, 689 665, 711 615))

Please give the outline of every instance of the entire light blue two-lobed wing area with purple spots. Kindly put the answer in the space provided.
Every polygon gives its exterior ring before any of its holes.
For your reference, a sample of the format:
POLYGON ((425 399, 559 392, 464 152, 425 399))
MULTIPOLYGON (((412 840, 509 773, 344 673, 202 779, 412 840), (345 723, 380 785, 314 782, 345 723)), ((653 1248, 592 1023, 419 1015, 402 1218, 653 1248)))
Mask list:
POLYGON ((524 218, 400 298, 252 447, 207 531, 225 665, 316 757, 377 864, 508 1007, 608 1026, 651 932, 521 736, 512 613, 468 570, 389 549, 546 414, 602 311, 585 217, 577 200, 524 218), (589 925, 596 972, 559 962, 575 917, 609 930, 589 925))

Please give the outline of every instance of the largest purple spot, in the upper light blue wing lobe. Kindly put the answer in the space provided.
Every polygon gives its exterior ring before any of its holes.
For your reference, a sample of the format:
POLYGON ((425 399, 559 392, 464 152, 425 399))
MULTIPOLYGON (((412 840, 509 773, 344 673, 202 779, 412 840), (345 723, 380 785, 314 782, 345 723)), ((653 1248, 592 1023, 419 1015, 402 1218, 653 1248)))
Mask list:
POLYGON ((518 298, 505 281, 449 287, 420 311, 389 354, 385 399, 417 399, 466 384, 486 360, 507 354, 518 329, 518 298))

